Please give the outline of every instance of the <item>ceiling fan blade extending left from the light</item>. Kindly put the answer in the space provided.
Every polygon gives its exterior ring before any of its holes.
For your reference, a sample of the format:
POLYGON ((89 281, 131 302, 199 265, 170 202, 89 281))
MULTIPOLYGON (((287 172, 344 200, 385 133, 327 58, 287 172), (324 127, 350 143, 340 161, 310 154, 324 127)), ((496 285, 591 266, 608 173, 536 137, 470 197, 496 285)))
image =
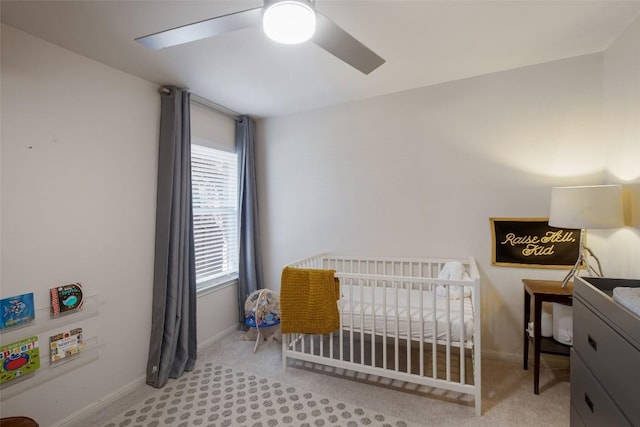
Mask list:
POLYGON ((162 49, 260 25, 261 20, 262 8, 257 7, 138 37, 136 41, 151 49, 162 49))

